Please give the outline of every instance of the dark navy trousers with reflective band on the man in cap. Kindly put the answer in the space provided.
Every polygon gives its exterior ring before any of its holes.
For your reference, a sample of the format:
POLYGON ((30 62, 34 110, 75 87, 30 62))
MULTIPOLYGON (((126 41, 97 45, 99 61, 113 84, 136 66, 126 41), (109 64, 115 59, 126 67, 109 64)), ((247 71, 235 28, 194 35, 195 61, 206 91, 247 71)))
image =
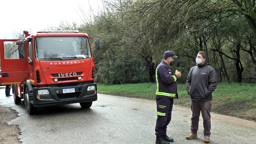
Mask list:
POLYGON ((156 99, 158 116, 156 119, 156 137, 166 135, 167 126, 171 122, 171 114, 173 110, 172 98, 156 99))

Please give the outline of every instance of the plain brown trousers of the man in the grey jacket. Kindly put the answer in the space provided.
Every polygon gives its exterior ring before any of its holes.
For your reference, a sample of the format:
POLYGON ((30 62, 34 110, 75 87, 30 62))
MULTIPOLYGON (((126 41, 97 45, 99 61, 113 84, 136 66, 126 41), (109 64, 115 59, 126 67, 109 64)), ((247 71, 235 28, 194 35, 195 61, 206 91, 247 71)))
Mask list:
POLYGON ((202 100, 190 100, 190 106, 192 110, 191 118, 191 133, 197 134, 198 131, 198 122, 200 112, 202 112, 203 125, 204 125, 204 136, 210 137, 211 130, 211 100, 202 101, 202 100))

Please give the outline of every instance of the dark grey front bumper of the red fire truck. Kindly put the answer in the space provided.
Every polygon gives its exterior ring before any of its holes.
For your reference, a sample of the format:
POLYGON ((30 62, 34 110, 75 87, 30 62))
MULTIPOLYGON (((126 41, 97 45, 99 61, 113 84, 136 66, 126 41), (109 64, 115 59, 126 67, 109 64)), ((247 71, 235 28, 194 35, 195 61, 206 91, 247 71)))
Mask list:
POLYGON ((96 83, 80 83, 69 86, 47 85, 45 87, 33 87, 33 100, 30 102, 34 107, 46 107, 64 105, 69 103, 93 102, 97 100, 96 83), (94 85, 95 90, 87 91, 87 87, 94 85), (63 93, 63 89, 74 89, 72 93, 63 93), (38 95, 37 91, 47 89, 49 94, 38 95))

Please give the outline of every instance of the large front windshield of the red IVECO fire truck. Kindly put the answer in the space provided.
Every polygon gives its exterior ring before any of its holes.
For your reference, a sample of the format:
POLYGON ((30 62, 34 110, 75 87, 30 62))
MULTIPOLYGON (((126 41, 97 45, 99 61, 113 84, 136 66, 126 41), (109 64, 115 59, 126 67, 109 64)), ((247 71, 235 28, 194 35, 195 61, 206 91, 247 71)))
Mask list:
POLYGON ((36 37, 35 58, 41 61, 60 61, 91 58, 87 37, 36 37))

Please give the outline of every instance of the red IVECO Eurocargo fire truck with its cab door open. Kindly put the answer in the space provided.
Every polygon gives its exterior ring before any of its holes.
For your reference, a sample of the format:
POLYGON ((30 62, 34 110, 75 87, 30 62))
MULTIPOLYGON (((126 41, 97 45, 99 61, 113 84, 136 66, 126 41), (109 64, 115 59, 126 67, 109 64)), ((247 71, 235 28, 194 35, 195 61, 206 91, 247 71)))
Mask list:
MULTIPOLYGON (((15 104, 29 114, 37 107, 97 100, 95 65, 90 40, 79 31, 38 31, 25 39, 0 40, 2 84, 12 85, 15 104)), ((98 39, 96 50, 100 50, 98 39)), ((97 53, 98 54, 98 53, 97 53)))

